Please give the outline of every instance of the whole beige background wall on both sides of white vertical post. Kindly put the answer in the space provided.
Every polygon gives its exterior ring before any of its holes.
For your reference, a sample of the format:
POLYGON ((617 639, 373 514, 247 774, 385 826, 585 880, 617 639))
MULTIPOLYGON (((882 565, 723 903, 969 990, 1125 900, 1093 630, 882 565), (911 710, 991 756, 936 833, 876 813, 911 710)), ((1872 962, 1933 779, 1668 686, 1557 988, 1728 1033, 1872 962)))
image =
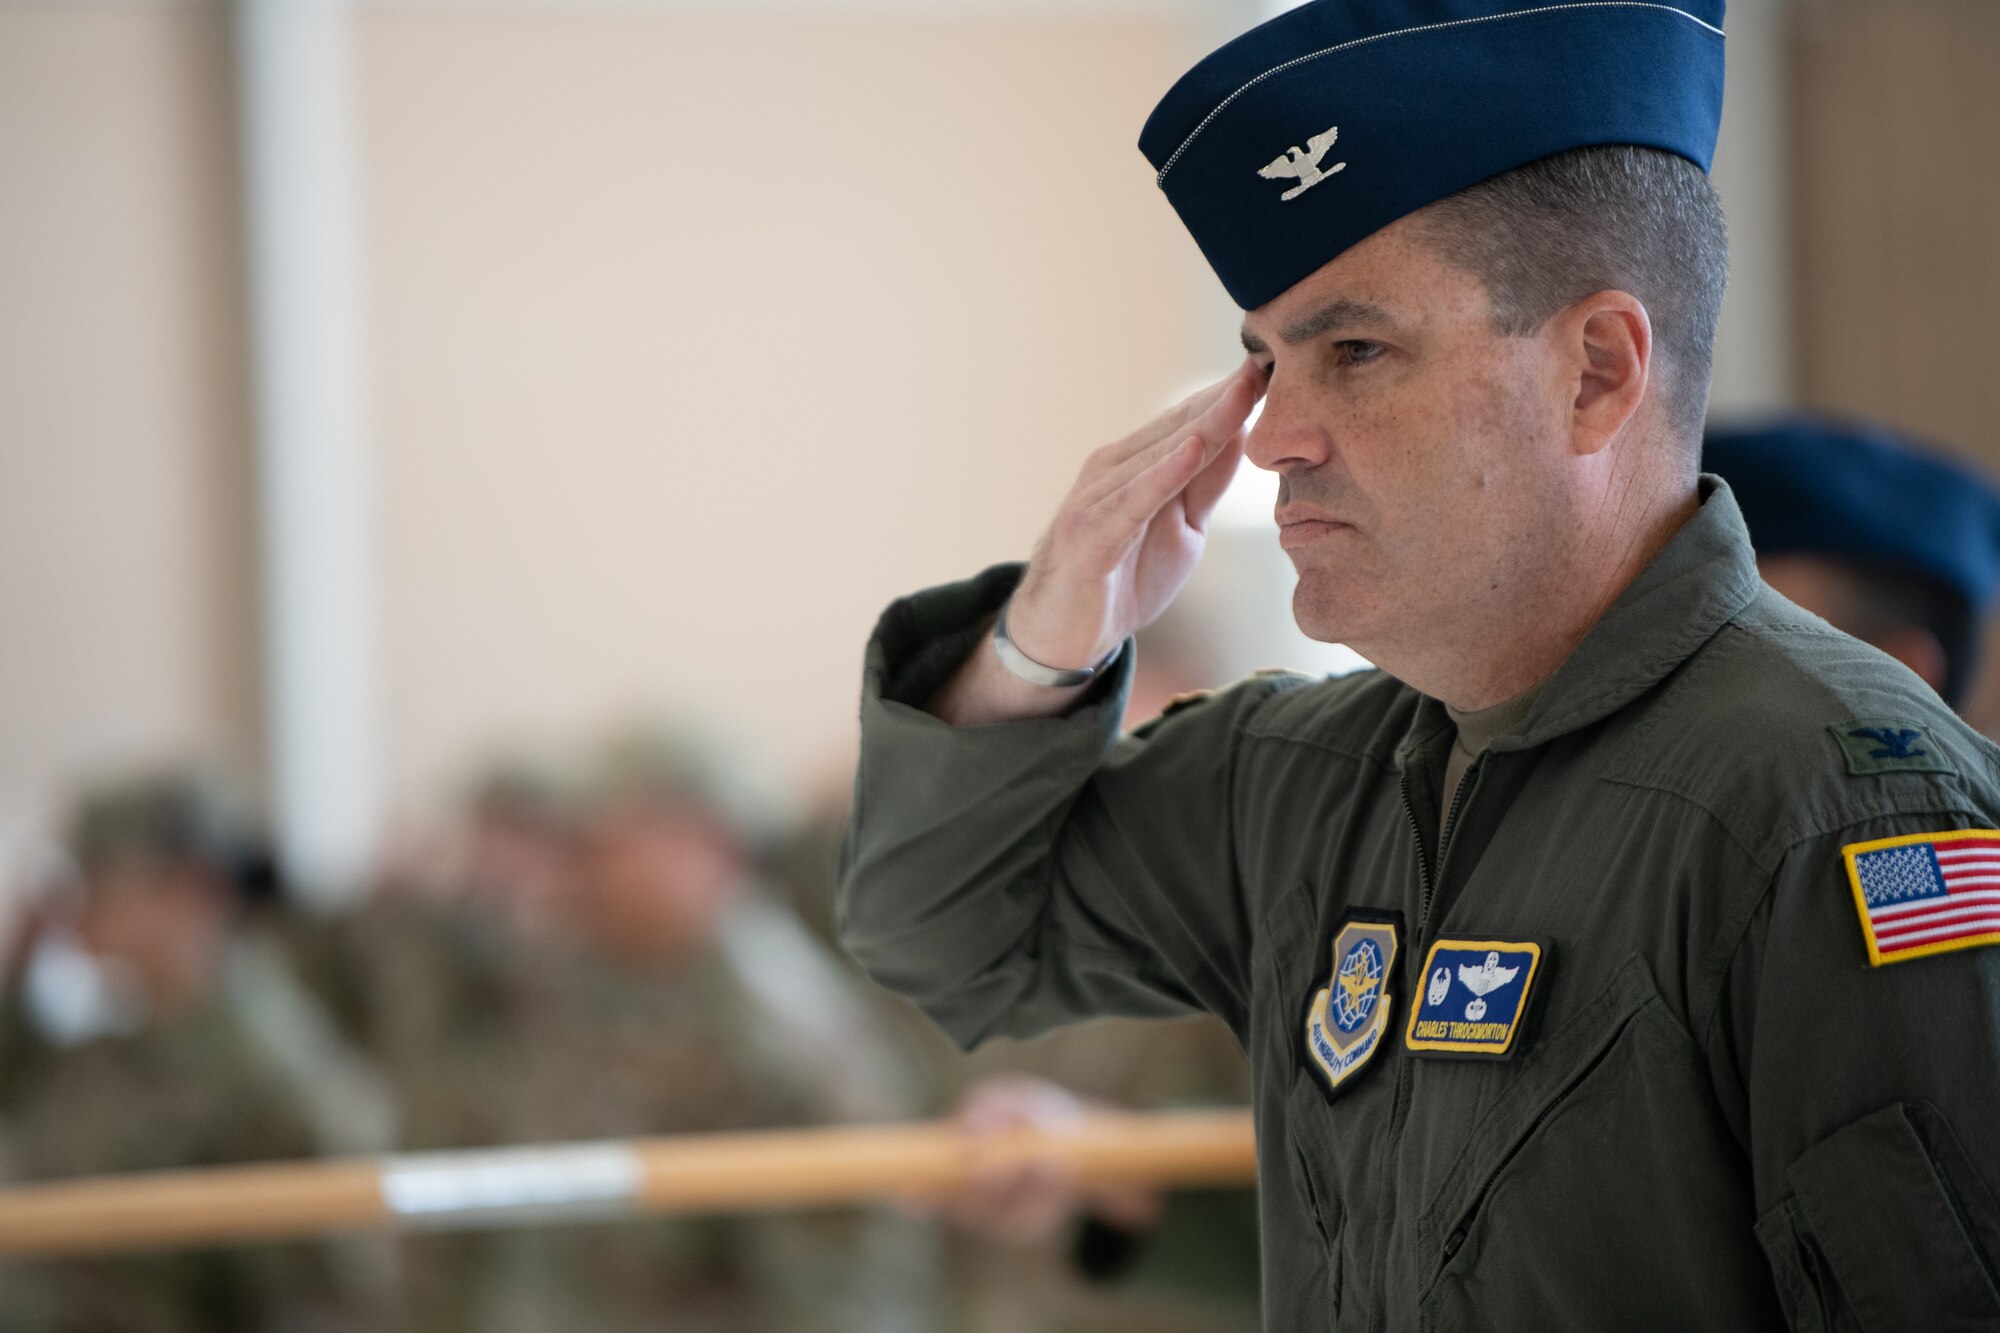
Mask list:
MULTIPOLYGON (((392 803, 628 713, 838 763, 880 604, 1208 368, 1132 148, 1198 40, 360 6, 392 803)), ((0 0, 0 827, 256 759, 228 80, 220 4, 0 0)))

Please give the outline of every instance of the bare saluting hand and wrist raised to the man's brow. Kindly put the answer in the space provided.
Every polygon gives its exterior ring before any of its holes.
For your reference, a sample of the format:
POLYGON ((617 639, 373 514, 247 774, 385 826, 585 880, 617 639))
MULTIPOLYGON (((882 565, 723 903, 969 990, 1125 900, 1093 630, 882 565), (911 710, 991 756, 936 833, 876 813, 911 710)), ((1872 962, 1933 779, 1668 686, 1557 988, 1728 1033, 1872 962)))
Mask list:
MULTIPOLYGON (((1090 666, 1168 608, 1202 558, 1262 394, 1264 374, 1246 360, 1084 460, 1008 608, 1022 652, 1044 666, 1090 666)), ((930 711, 954 725, 1050 717, 1080 689, 1030 685, 982 646, 930 711)))

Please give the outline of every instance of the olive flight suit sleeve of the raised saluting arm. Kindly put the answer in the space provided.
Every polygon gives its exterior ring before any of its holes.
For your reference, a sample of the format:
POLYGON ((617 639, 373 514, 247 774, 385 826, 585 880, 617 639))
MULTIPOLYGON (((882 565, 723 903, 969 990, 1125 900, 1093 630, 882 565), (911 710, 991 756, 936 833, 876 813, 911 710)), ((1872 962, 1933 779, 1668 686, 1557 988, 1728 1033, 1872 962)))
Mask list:
POLYGON ((1132 644, 1068 717, 922 705, 984 648, 1018 566, 904 598, 868 644, 840 937, 960 1045, 1208 1009, 1238 1035, 1248 929, 1232 779, 1248 683, 1120 739, 1132 644))

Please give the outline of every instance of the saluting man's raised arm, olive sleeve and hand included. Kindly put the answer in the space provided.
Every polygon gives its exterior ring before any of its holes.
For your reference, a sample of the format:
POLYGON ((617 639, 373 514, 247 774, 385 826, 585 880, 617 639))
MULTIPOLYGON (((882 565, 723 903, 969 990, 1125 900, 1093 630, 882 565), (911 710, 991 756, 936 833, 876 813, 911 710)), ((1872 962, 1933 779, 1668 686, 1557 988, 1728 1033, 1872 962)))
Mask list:
POLYGON ((1242 1009, 1242 979, 1212 961, 1244 933, 1232 741, 1272 687, 1118 741, 1130 652, 1082 689, 1048 689, 1012 675, 990 630, 1010 606, 1026 654, 1078 666, 1160 614, 1260 388, 1244 368, 1098 450, 1026 572, 904 598, 868 644, 842 941, 960 1043, 1098 1013, 1242 1009))

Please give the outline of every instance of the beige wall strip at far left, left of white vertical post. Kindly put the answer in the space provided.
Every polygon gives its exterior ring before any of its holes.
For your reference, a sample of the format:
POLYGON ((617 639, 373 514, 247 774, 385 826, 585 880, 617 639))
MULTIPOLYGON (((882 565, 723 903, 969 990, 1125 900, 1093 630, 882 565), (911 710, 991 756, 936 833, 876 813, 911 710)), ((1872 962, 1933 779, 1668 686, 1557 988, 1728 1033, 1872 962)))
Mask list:
POLYGON ((258 757, 224 76, 208 8, 0 4, 0 833, 258 757))

